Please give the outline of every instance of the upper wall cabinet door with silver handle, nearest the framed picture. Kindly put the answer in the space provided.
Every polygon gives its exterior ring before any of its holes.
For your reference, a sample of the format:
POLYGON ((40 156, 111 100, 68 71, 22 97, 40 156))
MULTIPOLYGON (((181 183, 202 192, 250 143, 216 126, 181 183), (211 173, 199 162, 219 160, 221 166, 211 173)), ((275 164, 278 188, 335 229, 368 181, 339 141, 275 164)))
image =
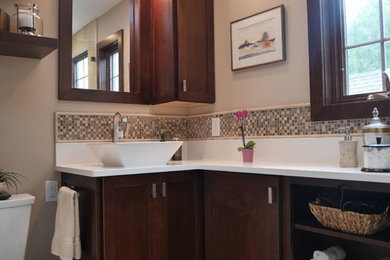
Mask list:
POLYGON ((213 0, 177 0, 179 100, 215 102, 213 0))

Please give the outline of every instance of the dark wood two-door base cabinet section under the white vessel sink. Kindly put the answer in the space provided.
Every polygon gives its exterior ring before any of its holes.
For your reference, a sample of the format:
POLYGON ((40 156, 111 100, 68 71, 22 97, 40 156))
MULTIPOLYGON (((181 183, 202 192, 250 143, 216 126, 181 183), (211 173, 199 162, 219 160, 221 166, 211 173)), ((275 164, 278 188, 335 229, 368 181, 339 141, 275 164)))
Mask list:
POLYGON ((83 260, 201 260, 202 173, 90 178, 62 174, 80 192, 83 260))

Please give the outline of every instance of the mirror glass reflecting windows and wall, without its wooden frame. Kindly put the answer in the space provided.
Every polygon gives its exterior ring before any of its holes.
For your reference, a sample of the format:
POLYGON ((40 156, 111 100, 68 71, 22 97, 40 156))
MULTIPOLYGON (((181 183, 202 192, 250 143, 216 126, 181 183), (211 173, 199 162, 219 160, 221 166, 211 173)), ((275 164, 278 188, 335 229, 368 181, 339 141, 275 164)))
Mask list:
POLYGON ((129 0, 73 0, 73 88, 130 92, 129 10, 129 0))

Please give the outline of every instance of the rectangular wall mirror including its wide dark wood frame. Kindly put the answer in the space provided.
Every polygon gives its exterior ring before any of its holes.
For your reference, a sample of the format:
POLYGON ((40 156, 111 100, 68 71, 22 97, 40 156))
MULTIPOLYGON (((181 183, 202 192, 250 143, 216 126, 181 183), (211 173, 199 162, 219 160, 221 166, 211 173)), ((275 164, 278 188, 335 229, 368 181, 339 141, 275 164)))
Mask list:
POLYGON ((149 103, 149 1, 60 0, 60 100, 149 103))

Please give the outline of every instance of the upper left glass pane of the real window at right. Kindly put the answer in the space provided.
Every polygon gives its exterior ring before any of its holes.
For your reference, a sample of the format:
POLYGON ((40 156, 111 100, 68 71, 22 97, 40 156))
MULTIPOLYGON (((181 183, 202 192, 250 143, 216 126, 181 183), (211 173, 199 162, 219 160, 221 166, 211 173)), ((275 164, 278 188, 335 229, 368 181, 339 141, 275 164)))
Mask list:
POLYGON ((347 46, 379 40, 379 0, 344 0, 347 46))

